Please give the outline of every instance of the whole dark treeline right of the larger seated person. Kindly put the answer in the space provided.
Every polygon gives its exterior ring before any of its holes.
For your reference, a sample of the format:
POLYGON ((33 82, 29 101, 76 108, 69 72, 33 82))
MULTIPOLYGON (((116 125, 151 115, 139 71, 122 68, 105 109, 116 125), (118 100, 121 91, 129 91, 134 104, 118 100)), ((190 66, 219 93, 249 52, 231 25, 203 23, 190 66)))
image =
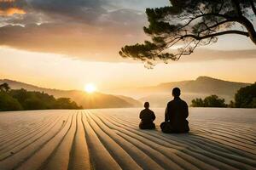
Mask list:
POLYGON ((192 107, 256 108, 256 82, 240 88, 235 94, 235 101, 231 100, 230 104, 226 104, 225 99, 220 99, 217 95, 207 96, 205 99, 196 98, 191 103, 192 107))

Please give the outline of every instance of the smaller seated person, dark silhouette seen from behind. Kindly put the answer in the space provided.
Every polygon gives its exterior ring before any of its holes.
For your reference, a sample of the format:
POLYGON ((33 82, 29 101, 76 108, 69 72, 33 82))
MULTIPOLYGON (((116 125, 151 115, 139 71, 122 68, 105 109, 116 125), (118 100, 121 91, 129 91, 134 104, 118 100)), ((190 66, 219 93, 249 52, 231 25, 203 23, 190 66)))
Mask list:
POLYGON ((140 113, 140 119, 142 120, 140 122, 139 127, 141 129, 154 129, 155 125, 154 125, 154 111, 151 111, 149 109, 149 103, 145 102, 144 104, 145 109, 143 111, 141 111, 140 113))

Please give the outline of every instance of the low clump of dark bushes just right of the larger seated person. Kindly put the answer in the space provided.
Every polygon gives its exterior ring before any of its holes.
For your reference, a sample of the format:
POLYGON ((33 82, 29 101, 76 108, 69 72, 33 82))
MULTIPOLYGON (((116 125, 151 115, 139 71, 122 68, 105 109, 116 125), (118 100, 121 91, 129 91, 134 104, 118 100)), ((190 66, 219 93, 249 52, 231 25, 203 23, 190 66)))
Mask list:
POLYGON ((219 99, 217 95, 207 96, 205 99, 193 99, 192 107, 227 107, 225 99, 219 99))

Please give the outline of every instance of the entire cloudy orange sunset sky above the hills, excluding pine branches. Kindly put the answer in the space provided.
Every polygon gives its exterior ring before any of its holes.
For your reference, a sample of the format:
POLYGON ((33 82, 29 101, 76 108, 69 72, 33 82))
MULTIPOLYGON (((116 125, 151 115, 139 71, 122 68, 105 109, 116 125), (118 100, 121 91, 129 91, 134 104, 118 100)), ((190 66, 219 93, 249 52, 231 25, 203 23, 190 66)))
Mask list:
POLYGON ((191 56, 152 70, 122 59, 121 47, 147 38, 145 8, 168 4, 167 0, 0 0, 0 78, 61 89, 94 83, 104 92, 199 76, 256 82, 256 46, 247 37, 221 37, 191 56))

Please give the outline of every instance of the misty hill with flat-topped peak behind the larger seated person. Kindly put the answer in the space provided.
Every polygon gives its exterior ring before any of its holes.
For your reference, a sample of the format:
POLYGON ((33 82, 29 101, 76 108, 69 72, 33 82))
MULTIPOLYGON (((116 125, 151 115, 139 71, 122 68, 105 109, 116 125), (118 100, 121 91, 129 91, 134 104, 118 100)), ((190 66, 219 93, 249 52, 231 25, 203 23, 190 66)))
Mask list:
POLYGON ((182 98, 189 104, 192 99, 204 98, 207 95, 217 94, 230 102, 239 88, 246 87, 250 83, 229 82, 212 77, 198 77, 195 80, 181 82, 165 82, 157 86, 131 88, 127 91, 119 91, 119 94, 134 94, 141 96, 140 101, 149 101, 152 106, 165 106, 172 99, 172 88, 178 87, 182 90, 182 98))

